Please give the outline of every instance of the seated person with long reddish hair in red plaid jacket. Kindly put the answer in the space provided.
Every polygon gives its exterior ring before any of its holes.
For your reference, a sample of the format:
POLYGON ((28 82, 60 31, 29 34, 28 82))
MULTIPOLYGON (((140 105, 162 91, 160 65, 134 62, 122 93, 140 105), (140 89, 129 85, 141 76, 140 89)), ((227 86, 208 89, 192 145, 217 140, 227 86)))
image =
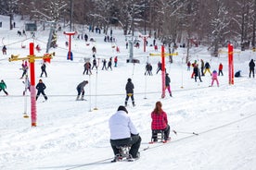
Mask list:
POLYGON ((157 131, 163 130, 164 131, 164 141, 167 142, 168 140, 171 140, 169 137, 170 134, 170 126, 168 125, 168 118, 166 113, 161 108, 160 101, 156 103, 155 109, 151 113, 151 129, 152 129, 152 139, 153 141, 158 141, 157 137, 157 131))

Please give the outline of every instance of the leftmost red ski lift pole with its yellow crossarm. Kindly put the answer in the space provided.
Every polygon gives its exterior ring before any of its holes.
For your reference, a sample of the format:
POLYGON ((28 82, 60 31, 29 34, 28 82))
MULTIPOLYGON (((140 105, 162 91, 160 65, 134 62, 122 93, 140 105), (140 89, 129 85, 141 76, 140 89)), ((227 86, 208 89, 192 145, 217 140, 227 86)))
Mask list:
POLYGON ((34 62, 35 59, 47 59, 50 60, 53 54, 45 54, 43 56, 34 55, 34 44, 30 43, 30 55, 25 57, 19 57, 19 55, 11 55, 9 62, 18 61, 18 60, 29 60, 30 63, 30 72, 31 72, 31 116, 32 116, 32 127, 36 127, 36 94, 35 94, 35 73, 34 73, 34 62))

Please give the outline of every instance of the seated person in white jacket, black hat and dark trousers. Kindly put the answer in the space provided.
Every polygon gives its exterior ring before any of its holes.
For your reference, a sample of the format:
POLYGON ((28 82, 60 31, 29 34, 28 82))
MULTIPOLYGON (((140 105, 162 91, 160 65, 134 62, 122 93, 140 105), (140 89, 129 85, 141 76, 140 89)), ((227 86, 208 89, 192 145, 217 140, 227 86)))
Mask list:
POLYGON ((138 158, 141 138, 134 127, 128 111, 124 106, 119 106, 117 112, 109 118, 110 144, 114 154, 118 154, 117 146, 131 145, 130 154, 138 158))

